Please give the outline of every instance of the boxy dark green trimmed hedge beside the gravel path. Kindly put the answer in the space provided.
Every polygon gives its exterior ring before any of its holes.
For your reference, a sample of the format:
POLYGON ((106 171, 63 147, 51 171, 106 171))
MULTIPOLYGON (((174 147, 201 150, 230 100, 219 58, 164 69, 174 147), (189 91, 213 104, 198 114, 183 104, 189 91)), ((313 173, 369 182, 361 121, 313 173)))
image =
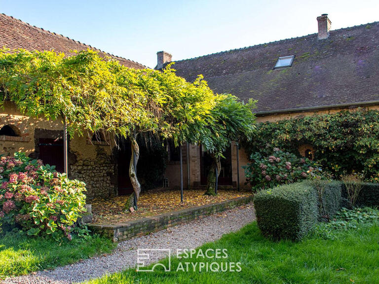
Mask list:
MULTIPOLYGON (((319 221, 320 201, 316 183, 297 182, 261 190, 254 197, 258 226, 274 240, 300 240, 319 221)), ((341 208, 341 182, 329 182, 323 194, 325 213, 341 208)))

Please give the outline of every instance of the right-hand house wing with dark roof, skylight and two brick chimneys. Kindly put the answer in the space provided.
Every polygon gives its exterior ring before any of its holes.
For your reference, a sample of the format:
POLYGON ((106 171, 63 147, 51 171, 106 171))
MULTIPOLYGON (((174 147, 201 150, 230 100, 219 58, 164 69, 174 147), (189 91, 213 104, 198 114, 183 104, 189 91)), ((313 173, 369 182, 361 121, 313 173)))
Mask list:
MULTIPOLYGON (((378 109, 379 22, 333 31, 323 14, 317 23, 316 34, 180 60, 172 68, 188 81, 202 74, 217 93, 258 100, 258 122, 358 106, 378 109)), ((170 62, 171 54, 160 51, 155 68, 170 62)), ((299 151, 311 158, 313 148, 303 145, 299 151)), ((235 144, 225 156, 219 183, 235 186, 239 181, 242 187, 245 151, 238 153, 239 171, 235 144)), ((189 162, 190 184, 203 184, 207 154, 191 145, 189 162)))

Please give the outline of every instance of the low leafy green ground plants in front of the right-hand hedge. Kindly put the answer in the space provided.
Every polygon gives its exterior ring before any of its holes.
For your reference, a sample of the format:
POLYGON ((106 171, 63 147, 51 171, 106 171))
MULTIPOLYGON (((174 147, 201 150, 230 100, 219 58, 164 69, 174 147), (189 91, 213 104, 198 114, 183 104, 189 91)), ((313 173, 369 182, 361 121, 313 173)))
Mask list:
POLYGON ((379 223, 379 211, 369 207, 348 210, 342 208, 336 212, 332 221, 319 223, 310 235, 321 239, 336 240, 348 230, 357 230, 362 226, 372 226, 379 223))

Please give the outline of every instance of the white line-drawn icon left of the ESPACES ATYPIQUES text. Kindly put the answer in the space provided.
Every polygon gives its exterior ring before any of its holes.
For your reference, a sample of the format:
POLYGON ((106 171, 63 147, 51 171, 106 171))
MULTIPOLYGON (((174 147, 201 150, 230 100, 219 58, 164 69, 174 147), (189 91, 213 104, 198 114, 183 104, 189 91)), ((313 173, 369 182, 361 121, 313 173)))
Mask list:
POLYGON ((153 272, 157 266, 163 267, 165 272, 171 271, 171 249, 137 249, 137 271, 153 272), (152 255, 155 259, 168 257, 168 267, 163 263, 155 263, 151 269, 148 269, 146 262, 152 255))

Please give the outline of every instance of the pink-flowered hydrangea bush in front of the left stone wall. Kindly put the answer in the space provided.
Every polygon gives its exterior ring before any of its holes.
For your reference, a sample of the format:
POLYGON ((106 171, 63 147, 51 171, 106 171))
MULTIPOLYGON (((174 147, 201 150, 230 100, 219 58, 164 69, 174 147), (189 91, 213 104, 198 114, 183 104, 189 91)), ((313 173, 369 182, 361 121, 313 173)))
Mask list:
POLYGON ((79 213, 85 211, 85 184, 32 160, 24 153, 0 156, 0 226, 28 235, 71 240, 79 213))

